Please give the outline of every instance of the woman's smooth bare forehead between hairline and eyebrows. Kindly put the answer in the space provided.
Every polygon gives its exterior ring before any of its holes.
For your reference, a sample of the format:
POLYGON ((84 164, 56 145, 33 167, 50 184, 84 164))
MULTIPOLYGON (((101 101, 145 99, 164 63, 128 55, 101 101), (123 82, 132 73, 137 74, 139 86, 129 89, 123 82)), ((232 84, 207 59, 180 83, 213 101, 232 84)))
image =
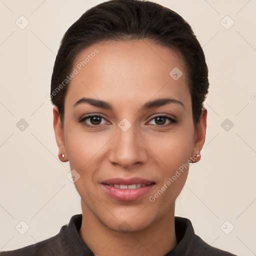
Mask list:
POLYGON ((134 103, 170 96, 189 103, 179 52, 145 39, 93 44, 78 54, 73 70, 66 95, 73 103, 83 96, 134 103))

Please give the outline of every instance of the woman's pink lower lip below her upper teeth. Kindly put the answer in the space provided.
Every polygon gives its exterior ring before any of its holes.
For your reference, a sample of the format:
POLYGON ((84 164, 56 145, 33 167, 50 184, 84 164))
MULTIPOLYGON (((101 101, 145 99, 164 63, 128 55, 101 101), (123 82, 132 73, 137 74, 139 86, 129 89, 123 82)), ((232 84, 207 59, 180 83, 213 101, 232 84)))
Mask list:
POLYGON ((133 201, 138 199, 139 197, 148 193, 154 184, 135 188, 135 189, 121 189, 114 186, 109 186, 106 184, 102 184, 105 191, 114 199, 121 201, 133 201))

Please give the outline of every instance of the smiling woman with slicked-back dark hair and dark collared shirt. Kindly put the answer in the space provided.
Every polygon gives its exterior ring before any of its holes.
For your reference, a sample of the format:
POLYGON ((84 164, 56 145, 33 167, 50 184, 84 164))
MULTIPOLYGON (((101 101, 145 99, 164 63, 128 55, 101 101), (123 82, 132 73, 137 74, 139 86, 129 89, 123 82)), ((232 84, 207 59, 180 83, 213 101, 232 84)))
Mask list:
POLYGON ((190 26, 152 2, 110 0, 65 33, 51 101, 82 214, 0 255, 233 255, 174 216, 204 144, 208 69, 190 26))

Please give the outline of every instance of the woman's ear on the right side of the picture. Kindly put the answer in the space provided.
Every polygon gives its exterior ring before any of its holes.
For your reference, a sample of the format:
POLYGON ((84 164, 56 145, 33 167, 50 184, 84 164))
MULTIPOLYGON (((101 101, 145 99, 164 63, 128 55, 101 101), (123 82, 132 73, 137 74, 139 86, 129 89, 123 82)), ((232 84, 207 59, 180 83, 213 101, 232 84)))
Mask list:
POLYGON ((206 134, 206 117, 207 109, 202 108, 199 118, 199 122, 196 125, 195 134, 194 134, 194 144, 192 148, 192 155, 190 157, 192 162, 198 162, 201 159, 200 151, 205 141, 206 134))

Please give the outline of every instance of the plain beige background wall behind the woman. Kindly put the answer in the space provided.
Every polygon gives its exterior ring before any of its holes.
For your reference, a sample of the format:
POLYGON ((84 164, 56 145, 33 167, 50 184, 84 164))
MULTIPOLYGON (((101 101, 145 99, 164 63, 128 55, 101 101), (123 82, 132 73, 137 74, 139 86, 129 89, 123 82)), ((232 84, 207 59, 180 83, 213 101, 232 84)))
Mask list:
MULTIPOLYGON (((46 94, 62 35, 99 2, 0 0, 0 250, 51 237, 81 212, 68 162, 57 158, 46 94), (29 21, 24 29, 15 23, 21 15, 29 21), (28 123, 23 131, 16 127, 21 118, 28 123), (22 220, 29 226, 24 234, 15 229, 22 220)), ((190 167, 175 214, 188 217, 212 246, 256 255, 256 1, 155 2, 190 23, 209 67, 202 159, 190 167)))

